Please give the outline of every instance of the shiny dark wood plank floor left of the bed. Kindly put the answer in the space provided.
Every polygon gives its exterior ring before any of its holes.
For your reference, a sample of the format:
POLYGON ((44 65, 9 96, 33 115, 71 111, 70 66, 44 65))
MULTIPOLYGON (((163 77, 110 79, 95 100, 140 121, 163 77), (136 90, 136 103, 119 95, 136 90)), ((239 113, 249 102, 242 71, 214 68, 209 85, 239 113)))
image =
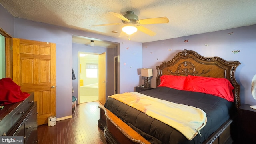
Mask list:
POLYGON ((97 102, 76 105, 72 118, 61 120, 55 126, 38 127, 39 144, 107 144, 103 130, 98 128, 97 102))

